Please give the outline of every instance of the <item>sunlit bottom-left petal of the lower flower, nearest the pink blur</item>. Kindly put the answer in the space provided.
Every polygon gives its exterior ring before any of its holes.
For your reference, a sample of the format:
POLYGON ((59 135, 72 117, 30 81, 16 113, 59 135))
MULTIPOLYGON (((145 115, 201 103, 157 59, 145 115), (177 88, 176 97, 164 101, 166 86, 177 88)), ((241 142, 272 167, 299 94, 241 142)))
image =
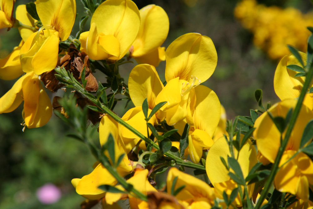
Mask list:
POLYGON ((76 184, 78 194, 90 200, 96 200, 105 195, 105 192, 98 189, 98 186, 104 184, 114 186, 117 180, 102 164, 99 164, 90 174, 83 176, 77 182, 78 180, 75 179, 72 184, 76 184))

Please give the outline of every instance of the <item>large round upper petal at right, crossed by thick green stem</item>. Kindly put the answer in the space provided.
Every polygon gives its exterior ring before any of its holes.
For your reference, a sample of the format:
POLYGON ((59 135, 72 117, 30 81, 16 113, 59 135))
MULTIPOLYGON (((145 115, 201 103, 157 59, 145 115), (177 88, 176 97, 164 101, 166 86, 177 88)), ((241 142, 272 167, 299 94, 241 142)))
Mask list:
MULTIPOLYGON (((287 112, 290 108, 294 108, 297 100, 287 99, 274 104, 269 108, 269 112, 272 113, 274 117, 280 116, 285 118, 287 112)), ((291 132, 286 150, 298 150, 300 146, 300 140, 302 137, 303 130, 306 124, 313 118, 313 113, 306 106, 302 106, 300 109, 299 117, 295 123, 294 129, 291 132)), ((255 121, 254 126, 254 138, 256 139, 256 144, 258 150, 268 159, 271 163, 274 163, 278 149, 280 147, 280 132, 276 128, 272 119, 269 117, 267 112, 264 112, 255 121), (268 144, 271 146, 268 146, 268 144)), ((283 133, 283 138, 285 133, 283 133)))

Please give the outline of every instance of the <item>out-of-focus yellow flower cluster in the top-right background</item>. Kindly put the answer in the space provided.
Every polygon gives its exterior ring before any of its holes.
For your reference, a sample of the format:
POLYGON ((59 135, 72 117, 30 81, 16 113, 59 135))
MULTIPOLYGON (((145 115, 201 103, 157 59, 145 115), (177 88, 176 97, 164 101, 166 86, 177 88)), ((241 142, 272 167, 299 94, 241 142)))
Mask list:
POLYGON ((237 4, 235 17, 254 34, 253 42, 267 52, 271 59, 289 54, 287 44, 306 50, 306 41, 313 25, 313 13, 303 14, 295 8, 266 7, 255 0, 237 4))

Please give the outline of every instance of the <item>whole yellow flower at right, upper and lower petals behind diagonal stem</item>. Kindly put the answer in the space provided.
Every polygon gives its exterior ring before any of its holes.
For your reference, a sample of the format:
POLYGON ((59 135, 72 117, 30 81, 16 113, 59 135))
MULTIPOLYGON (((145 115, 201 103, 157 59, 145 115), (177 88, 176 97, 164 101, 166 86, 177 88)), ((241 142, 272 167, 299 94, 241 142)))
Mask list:
MULTIPOLYGON (((289 109, 295 107, 296 102, 296 99, 283 100, 273 105, 268 111, 274 117, 280 116, 285 118, 289 109)), ((299 150, 304 128, 312 118, 312 111, 303 105, 280 160, 280 170, 277 172, 274 180, 277 190, 297 195, 304 201, 308 201, 309 184, 313 184, 313 162, 306 154, 301 152, 289 162, 287 161, 299 150)), ((280 148, 280 138, 285 137, 285 132, 281 136, 268 112, 264 112, 255 121, 254 126, 256 127, 254 138, 256 139, 259 152, 269 162, 274 163, 280 148), (268 144, 271 144, 271 146, 268 146, 268 144)))

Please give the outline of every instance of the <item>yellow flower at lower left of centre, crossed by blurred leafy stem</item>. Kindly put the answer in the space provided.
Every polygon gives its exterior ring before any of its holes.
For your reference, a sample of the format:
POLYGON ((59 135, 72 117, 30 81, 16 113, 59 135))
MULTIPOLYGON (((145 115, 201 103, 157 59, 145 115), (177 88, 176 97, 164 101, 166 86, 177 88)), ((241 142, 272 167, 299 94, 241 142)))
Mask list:
MULTIPOLYGON (((132 165, 127 158, 125 145, 119 136, 118 124, 110 116, 105 115, 101 118, 99 126, 100 144, 103 145, 107 142, 109 134, 113 135, 115 139, 115 159, 125 154, 117 171, 120 175, 125 176, 132 171, 132 165)), ((107 153, 105 153, 108 155, 107 153)), ((76 188, 76 192, 81 196, 90 200, 99 199, 105 196, 105 192, 98 187, 100 185, 108 184, 114 186, 117 180, 110 172, 100 163, 88 175, 83 176, 81 179, 73 179, 72 184, 76 188)))

